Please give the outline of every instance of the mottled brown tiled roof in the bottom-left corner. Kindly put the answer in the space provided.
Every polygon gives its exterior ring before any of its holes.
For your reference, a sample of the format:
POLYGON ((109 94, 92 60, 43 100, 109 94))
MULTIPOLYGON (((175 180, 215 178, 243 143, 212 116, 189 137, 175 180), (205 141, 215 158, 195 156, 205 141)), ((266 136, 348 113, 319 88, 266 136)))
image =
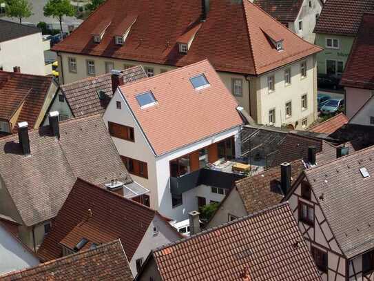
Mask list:
POLYGON ((45 262, 37 267, 14 271, 0 276, 0 279, 3 281, 133 280, 129 263, 119 240, 97 246, 96 249, 80 251, 45 262))

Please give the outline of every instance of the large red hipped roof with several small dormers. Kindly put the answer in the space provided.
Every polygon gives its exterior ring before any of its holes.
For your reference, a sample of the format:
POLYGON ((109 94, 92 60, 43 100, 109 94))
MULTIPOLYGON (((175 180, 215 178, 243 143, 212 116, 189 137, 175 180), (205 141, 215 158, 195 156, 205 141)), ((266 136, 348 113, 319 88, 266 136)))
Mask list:
POLYGON ((201 0, 108 0, 53 50, 169 66, 209 59, 216 70, 249 75, 260 75, 322 50, 249 0, 217 0, 210 1, 207 21, 202 22, 187 55, 182 55, 176 41, 191 24, 200 23, 201 14, 201 0), (116 46, 114 30, 128 14, 137 16, 136 23, 123 46, 116 46), (94 43, 92 30, 103 19, 111 24, 101 43, 94 43), (282 52, 261 28, 274 30, 284 38, 282 52))

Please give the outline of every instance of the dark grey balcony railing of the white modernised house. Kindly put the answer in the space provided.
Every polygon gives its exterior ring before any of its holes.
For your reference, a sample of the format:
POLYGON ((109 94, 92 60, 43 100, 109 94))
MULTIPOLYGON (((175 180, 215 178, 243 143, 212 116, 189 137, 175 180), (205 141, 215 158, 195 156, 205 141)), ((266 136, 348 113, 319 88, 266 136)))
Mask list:
POLYGON ((209 168, 200 168, 187 175, 170 177, 170 192, 175 195, 180 195, 201 184, 229 190, 237 180, 241 180, 244 177, 245 175, 236 173, 225 173, 209 168))

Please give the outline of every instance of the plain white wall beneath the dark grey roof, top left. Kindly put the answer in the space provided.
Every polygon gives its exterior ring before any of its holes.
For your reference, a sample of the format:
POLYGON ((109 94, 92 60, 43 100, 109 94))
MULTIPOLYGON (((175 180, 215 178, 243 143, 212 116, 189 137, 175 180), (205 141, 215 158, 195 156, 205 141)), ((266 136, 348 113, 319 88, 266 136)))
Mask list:
POLYGON ((14 66, 20 66, 22 73, 46 75, 44 48, 41 33, 1 42, 0 67, 13 71, 14 66))

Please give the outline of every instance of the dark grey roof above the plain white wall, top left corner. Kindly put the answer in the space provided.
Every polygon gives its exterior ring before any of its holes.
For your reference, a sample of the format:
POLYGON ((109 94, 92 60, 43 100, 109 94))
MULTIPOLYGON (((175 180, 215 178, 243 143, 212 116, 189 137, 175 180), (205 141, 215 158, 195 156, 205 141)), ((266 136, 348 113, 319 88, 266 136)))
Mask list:
POLYGON ((0 42, 17 39, 19 37, 39 32, 41 32, 41 30, 34 26, 25 26, 23 24, 0 19, 0 42))

